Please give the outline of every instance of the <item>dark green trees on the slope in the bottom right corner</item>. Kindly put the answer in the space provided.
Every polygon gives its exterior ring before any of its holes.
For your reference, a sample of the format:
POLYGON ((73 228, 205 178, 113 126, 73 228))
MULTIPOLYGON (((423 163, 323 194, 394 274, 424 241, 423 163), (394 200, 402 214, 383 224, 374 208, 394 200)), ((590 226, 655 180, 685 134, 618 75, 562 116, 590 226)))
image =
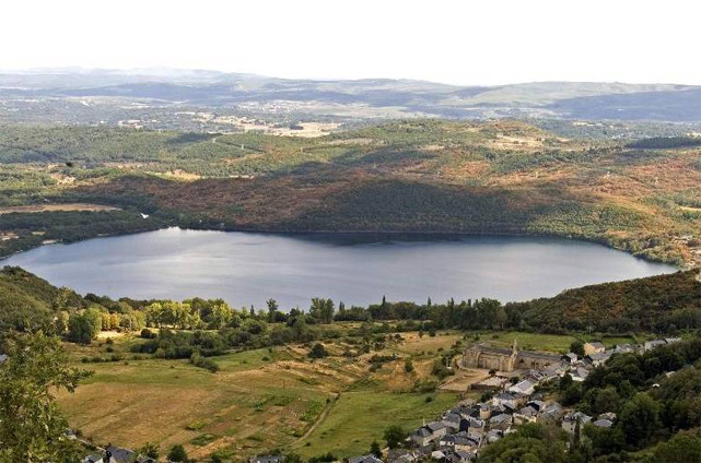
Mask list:
MULTIPOLYGON (((560 388, 565 404, 594 416, 607 412, 618 416, 612 428, 583 428, 591 442, 589 453, 620 455, 667 441, 680 430, 701 427, 700 360, 701 337, 694 337, 642 355, 615 355, 581 384, 564 377, 560 388)), ((696 439, 701 442, 698 435, 696 439)), ((676 450, 677 455, 680 452, 676 450)), ((693 460, 665 456, 654 461, 693 460)))

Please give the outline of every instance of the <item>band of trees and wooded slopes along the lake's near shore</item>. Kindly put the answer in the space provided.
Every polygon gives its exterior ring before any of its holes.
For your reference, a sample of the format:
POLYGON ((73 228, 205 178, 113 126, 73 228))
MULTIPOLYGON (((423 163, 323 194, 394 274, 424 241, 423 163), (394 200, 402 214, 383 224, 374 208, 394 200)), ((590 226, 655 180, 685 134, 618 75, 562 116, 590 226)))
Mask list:
MULTIPOLYGON (((552 298, 502 305, 495 299, 434 304, 392 302, 383 298, 367 307, 338 307, 313 298, 308 310, 233 309, 222 299, 117 301, 77 295, 17 268, 0 272, 0 329, 52 330, 75 342, 90 342, 100 330, 143 328, 217 331, 227 347, 261 347, 311 342, 317 324, 340 321, 395 323, 381 331, 526 330, 544 333, 597 331, 674 334, 701 328, 701 283, 696 271, 566 290, 552 298)), ((166 349, 164 347, 164 349, 166 349)))

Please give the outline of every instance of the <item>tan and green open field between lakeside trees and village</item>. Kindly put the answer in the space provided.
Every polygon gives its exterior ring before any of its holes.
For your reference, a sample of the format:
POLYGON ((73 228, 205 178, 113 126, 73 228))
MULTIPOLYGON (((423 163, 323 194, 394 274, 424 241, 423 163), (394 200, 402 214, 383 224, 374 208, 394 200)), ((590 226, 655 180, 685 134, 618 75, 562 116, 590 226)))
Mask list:
POLYGON ((187 360, 133 359, 129 352, 140 342, 137 336, 102 333, 90 346, 65 344, 72 363, 94 376, 74 394, 60 394, 59 402, 71 426, 96 443, 183 443, 195 458, 213 452, 245 456, 274 448, 293 448, 306 456, 328 451, 348 456, 382 441, 387 426, 416 427, 462 396, 411 392, 417 379, 430 377, 437 349, 449 348, 462 335, 405 334, 406 343, 378 352, 396 352, 398 359, 369 375, 371 354, 346 359, 341 342, 329 343, 335 355, 323 360, 309 360, 302 345, 217 356, 220 370, 211 373, 187 360), (92 360, 113 355, 120 359, 92 360), (408 356, 416 357, 411 373, 401 369, 408 356))

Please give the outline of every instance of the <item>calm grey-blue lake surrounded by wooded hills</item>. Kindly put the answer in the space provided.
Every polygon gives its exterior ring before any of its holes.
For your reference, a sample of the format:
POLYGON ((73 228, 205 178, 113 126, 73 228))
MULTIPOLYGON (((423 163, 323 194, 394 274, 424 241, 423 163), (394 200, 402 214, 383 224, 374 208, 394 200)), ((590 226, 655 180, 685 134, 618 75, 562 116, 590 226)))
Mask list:
POLYGON ((21 265, 55 285, 133 298, 221 297, 236 307, 307 307, 553 296, 566 288, 674 272, 604 246, 556 238, 270 235, 170 228, 44 246, 21 265))

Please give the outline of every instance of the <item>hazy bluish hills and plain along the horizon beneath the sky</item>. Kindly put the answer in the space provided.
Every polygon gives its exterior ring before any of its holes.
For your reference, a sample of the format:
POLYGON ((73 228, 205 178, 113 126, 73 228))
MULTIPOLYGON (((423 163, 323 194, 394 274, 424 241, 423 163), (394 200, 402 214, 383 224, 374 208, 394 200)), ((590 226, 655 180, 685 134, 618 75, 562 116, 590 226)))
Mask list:
POLYGON ((37 117, 45 118, 51 111, 68 117, 71 105, 77 104, 92 105, 101 111, 108 106, 124 110, 128 107, 125 105, 139 104, 161 109, 245 109, 256 115, 350 119, 437 116, 701 121, 701 86, 693 85, 539 82, 456 86, 388 79, 288 80, 197 70, 48 69, 0 73, 0 120, 12 120, 13 116, 23 120, 23 115, 33 120, 27 115, 36 112, 32 106, 36 104, 48 105, 37 112, 37 117), (59 102, 65 106, 56 107, 59 102))

